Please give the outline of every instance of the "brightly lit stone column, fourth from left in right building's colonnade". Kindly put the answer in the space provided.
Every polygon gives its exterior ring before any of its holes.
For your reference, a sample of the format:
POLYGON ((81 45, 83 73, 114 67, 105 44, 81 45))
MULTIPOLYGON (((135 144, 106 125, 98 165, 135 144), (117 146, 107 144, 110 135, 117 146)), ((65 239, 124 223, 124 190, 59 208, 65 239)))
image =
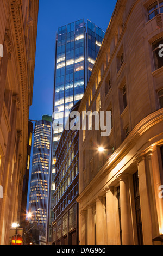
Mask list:
POLYGON ((114 209, 114 187, 106 187, 106 227, 107 244, 115 245, 115 209, 114 209))

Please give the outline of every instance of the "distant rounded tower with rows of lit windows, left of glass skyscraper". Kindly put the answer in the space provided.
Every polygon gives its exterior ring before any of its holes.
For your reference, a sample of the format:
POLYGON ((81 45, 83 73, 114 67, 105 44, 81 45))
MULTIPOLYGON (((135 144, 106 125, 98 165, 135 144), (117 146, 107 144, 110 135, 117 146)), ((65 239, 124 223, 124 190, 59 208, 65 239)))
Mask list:
POLYGON ((49 160, 51 144, 52 117, 43 115, 36 121, 33 145, 33 161, 30 179, 30 194, 28 212, 32 214, 30 223, 46 228, 49 160))

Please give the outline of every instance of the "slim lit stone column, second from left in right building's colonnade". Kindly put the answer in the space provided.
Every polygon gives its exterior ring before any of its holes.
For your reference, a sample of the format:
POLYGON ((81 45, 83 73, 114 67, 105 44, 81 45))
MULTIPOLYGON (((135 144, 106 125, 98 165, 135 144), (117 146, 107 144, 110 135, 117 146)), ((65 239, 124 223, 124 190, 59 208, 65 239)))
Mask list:
POLYGON ((87 206, 87 245, 95 245, 93 205, 87 206))

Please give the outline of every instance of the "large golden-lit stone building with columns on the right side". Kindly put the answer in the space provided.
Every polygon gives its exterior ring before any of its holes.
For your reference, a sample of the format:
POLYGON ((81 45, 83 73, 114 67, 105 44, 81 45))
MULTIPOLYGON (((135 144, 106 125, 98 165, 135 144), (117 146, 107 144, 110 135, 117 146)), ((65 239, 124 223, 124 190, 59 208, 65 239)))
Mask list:
POLYGON ((80 104, 111 112, 110 136, 79 131, 80 245, 163 241, 162 5, 117 1, 80 104))

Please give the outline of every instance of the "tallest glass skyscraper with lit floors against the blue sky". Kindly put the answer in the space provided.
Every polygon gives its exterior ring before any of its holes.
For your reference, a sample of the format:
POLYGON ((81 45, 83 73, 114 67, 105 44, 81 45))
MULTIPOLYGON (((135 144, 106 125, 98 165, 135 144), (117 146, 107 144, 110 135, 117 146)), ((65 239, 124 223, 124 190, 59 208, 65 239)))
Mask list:
MULTIPOLYGON (((55 150, 71 108, 84 95, 104 34, 101 28, 89 20, 85 23, 83 19, 58 28, 55 47, 52 176, 48 226, 54 217, 55 150)), ((51 228, 48 237, 50 241, 51 228)))

